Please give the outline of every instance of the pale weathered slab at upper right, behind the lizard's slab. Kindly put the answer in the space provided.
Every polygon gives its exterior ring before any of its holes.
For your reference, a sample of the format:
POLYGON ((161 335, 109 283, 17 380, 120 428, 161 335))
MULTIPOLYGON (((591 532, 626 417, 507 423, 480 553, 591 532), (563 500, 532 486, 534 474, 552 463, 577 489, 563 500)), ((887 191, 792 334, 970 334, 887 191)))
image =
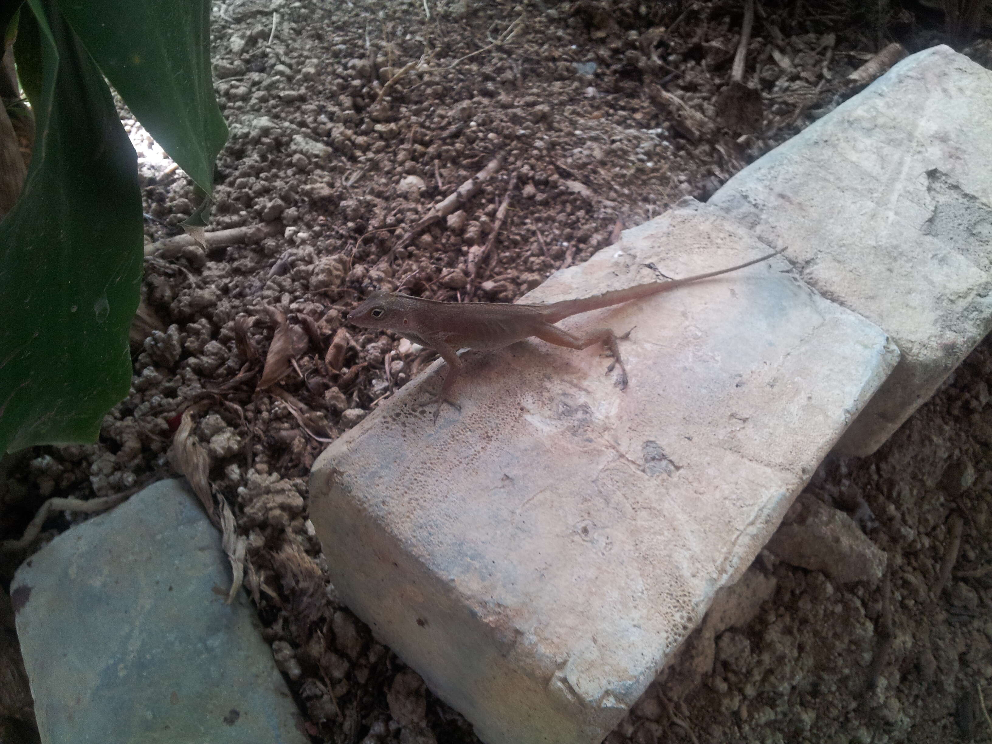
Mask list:
POLYGON ((899 346, 840 451, 875 451, 992 328, 990 122, 992 73, 935 47, 709 199, 899 346))

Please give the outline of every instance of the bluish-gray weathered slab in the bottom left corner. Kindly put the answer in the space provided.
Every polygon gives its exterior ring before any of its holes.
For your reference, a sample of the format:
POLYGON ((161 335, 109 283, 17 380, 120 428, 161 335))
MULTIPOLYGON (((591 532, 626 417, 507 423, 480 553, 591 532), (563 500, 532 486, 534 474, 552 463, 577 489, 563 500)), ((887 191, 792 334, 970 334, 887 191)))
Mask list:
POLYGON ((17 632, 46 744, 306 744, 220 536, 165 480, 22 565, 17 632))

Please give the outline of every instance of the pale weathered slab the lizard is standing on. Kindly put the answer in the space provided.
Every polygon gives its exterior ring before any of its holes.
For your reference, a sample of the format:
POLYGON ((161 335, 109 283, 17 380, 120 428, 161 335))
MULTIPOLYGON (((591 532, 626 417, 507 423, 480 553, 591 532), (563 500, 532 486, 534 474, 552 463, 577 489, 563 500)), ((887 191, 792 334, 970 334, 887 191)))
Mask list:
MULTIPOLYGON (((694 202, 530 301, 767 252, 694 202)), ((735 580, 896 362, 886 335, 781 258, 465 355, 460 414, 413 381, 314 464, 310 519, 341 596, 490 744, 599 742, 735 580), (474 378, 474 379, 470 379, 474 378)))

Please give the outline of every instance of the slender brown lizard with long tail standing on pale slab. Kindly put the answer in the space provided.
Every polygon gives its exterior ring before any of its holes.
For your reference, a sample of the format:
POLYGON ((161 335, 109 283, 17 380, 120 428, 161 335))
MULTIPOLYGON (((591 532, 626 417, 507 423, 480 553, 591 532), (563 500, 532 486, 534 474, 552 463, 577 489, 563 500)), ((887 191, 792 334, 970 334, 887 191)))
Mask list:
POLYGON ((581 298, 580 300, 562 300, 550 305, 441 303, 436 300, 424 300, 409 295, 373 292, 367 300, 348 313, 348 322, 364 328, 392 330, 404 338, 409 338, 414 343, 430 346, 440 354, 441 358, 447 362, 447 375, 444 377, 440 395, 435 401, 437 408, 434 410, 434 422, 436 422, 437 416, 440 414, 440 406, 445 401, 458 408, 457 404, 447 400, 447 395, 462 369, 462 362, 458 358, 458 349, 469 348, 481 351, 501 349, 531 336, 569 349, 584 349, 594 343, 602 342, 609 349, 614 360, 607 368, 607 372, 610 372, 614 366, 620 368, 617 385, 623 389, 627 387, 627 371, 620 358, 617 336, 610 328, 600 328, 578 338, 562 330, 554 323, 579 312, 589 312, 590 310, 608 308, 611 305, 629 303, 632 300, 640 300, 660 292, 674 290, 691 282, 729 274, 732 271, 767 261, 780 253, 782 253, 781 250, 775 251, 753 261, 731 266, 729 269, 710 271, 685 279, 651 282, 625 290, 604 292, 601 295, 581 298))

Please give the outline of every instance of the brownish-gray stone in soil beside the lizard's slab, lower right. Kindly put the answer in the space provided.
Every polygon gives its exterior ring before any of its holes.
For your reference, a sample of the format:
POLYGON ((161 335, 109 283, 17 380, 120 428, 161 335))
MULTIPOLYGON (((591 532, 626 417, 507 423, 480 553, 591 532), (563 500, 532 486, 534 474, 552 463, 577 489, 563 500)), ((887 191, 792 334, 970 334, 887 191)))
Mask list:
POLYGON ((885 573, 885 552, 841 511, 802 494, 768 543, 790 565, 823 571, 839 583, 877 582, 885 573))

